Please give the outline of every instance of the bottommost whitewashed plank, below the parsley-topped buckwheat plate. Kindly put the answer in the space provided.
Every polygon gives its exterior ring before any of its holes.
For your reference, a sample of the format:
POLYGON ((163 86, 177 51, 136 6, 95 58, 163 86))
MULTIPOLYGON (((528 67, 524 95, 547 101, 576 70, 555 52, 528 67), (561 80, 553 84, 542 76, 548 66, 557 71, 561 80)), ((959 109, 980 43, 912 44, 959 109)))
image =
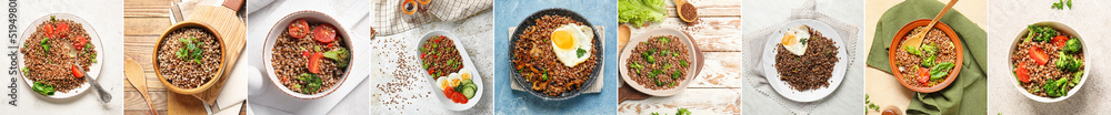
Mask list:
POLYGON ((672 96, 655 96, 618 104, 618 114, 675 114, 680 107, 695 115, 737 115, 741 113, 740 88, 687 88, 672 96))

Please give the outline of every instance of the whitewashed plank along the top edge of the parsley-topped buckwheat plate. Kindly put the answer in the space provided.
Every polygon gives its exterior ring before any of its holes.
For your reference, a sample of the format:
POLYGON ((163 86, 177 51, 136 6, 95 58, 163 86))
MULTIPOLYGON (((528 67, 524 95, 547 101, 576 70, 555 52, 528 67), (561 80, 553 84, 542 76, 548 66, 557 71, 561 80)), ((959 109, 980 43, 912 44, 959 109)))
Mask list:
POLYGON ((687 25, 679 18, 668 18, 662 22, 641 28, 631 28, 630 35, 638 34, 653 29, 670 28, 684 31, 694 38, 699 49, 702 51, 741 51, 741 18, 701 18, 701 22, 694 25, 687 25))

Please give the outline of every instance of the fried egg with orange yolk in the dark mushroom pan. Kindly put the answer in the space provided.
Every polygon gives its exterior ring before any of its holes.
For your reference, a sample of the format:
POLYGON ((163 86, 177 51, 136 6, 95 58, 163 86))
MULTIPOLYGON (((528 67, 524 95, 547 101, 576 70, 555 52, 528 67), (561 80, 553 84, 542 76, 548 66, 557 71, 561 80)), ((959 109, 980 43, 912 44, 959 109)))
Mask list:
POLYGON ((594 30, 588 25, 574 23, 563 24, 556 28, 550 34, 552 51, 564 66, 574 66, 585 62, 590 58, 590 50, 593 44, 594 30))

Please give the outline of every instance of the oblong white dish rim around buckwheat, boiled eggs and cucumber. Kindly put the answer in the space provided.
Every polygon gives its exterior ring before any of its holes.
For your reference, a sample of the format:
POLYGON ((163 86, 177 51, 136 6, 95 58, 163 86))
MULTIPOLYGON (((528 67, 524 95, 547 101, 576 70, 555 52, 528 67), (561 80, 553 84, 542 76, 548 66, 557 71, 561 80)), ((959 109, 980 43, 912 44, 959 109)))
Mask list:
MULTIPOLYGON (((417 42, 417 45, 413 46, 413 50, 410 51, 417 52, 414 54, 420 54, 420 51, 418 51, 418 49, 420 49, 420 46, 424 44, 424 41, 428 40, 429 38, 438 35, 443 35, 444 38, 448 38, 448 40, 451 40, 452 41, 451 43, 456 44, 456 50, 459 50, 459 56, 462 56, 463 59, 463 70, 470 71, 471 82, 474 82, 474 85, 478 85, 479 88, 478 91, 474 91, 474 96, 472 96, 470 100, 467 100, 467 104, 459 104, 452 102, 450 98, 448 98, 448 96, 444 96, 443 90, 441 90, 440 86, 437 85, 436 80, 432 79, 432 75, 424 74, 424 76, 429 79, 428 81, 429 85, 436 88, 437 92, 434 92, 433 94, 436 94, 436 98, 440 100, 440 103, 443 103, 444 107, 451 111, 470 109, 471 107, 474 107, 474 104, 479 103, 479 100, 482 98, 482 92, 486 90, 482 90, 482 76, 480 76, 478 71, 476 71, 474 62, 471 62, 471 58, 468 56, 467 54, 467 49, 463 49, 463 44, 461 44, 459 38, 456 38, 456 34, 448 33, 447 31, 432 31, 429 33, 424 33, 424 36, 421 36, 420 42, 417 42)), ((419 59, 417 60, 417 64, 422 64, 422 63, 423 62, 421 62, 421 60, 419 59)), ((428 72, 428 70, 421 67, 421 72, 428 72)))

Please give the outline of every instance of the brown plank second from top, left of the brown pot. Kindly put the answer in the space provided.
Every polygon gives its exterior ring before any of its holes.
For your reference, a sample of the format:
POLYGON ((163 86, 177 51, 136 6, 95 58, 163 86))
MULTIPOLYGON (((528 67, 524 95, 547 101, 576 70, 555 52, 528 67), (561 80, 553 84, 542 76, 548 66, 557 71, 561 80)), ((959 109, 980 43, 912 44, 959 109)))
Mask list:
POLYGON ((123 35, 160 35, 169 28, 169 17, 123 18, 123 35))

